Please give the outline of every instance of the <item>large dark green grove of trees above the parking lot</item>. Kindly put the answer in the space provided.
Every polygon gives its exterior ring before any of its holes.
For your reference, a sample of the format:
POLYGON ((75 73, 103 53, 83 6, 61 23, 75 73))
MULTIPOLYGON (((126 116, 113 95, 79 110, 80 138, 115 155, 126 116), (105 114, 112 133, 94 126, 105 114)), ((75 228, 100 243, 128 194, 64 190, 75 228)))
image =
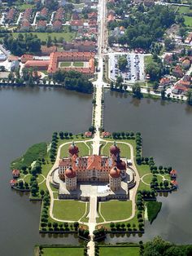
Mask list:
MULTIPOLYGON (((164 32, 175 22, 176 15, 171 8, 155 5, 145 10, 137 10, 129 15, 127 20, 114 21, 108 24, 110 29, 124 26, 124 36, 118 38, 121 44, 128 43, 131 48, 149 49, 152 42, 164 36, 164 32)), ((116 38, 110 38, 111 42, 116 38)))

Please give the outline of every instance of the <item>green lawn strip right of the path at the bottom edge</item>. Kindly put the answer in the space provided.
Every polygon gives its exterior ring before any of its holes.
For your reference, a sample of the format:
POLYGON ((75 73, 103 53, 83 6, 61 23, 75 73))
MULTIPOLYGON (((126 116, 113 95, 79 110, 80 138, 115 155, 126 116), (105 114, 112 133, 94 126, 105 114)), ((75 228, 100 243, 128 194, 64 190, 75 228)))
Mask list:
POLYGON ((139 256, 139 247, 99 247, 99 256, 139 256))

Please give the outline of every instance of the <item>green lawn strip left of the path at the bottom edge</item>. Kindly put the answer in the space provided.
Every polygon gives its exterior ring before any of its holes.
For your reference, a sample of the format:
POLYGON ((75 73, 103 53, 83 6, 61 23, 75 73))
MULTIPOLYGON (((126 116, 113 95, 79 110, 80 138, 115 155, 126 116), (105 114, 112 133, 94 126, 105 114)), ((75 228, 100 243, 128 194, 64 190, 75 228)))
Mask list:
POLYGON ((83 248, 43 248, 43 256, 79 256, 83 248))

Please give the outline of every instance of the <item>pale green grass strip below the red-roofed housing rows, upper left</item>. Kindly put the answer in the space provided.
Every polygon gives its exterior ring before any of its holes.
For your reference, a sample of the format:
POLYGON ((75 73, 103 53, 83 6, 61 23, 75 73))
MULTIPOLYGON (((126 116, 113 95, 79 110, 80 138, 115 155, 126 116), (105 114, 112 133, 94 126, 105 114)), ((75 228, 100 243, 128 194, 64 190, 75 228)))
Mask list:
MULTIPOLYGON (((19 33, 12 33, 14 37, 18 37, 19 33)), ((48 36, 50 36, 52 39, 57 38, 63 38, 66 42, 71 42, 75 36, 76 33, 74 32, 53 32, 53 33, 41 33, 41 32, 33 32, 33 35, 37 35, 41 41, 46 41, 48 36)))

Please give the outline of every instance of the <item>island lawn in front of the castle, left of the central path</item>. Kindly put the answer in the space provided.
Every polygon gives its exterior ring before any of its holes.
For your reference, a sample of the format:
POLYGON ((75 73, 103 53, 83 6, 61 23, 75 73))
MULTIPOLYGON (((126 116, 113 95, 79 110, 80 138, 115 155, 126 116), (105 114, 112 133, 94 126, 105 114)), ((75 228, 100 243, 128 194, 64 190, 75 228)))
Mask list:
POLYGON ((79 220, 85 214, 85 202, 74 200, 54 201, 53 214, 63 220, 79 220))

